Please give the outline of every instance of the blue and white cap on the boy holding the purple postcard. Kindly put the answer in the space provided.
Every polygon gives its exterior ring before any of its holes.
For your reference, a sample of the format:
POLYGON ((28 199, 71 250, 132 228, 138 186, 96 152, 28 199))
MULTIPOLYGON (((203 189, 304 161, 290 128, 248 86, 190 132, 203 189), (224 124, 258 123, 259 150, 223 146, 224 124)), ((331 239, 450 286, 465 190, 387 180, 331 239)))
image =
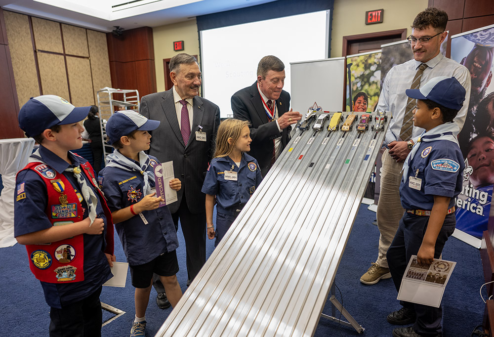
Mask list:
POLYGON ((135 111, 118 111, 110 116, 106 123, 108 143, 113 144, 134 130, 151 131, 158 126, 160 121, 148 120, 135 111))

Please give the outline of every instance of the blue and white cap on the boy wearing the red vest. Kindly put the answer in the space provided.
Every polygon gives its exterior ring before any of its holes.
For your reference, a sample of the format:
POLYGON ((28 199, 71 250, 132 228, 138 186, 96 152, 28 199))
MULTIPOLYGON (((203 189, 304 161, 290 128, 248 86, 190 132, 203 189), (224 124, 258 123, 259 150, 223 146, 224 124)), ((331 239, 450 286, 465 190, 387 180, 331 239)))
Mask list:
POLYGON ((76 108, 66 99, 55 95, 31 97, 19 111, 19 127, 28 137, 41 134, 55 125, 66 125, 82 121, 87 117, 90 106, 76 108))

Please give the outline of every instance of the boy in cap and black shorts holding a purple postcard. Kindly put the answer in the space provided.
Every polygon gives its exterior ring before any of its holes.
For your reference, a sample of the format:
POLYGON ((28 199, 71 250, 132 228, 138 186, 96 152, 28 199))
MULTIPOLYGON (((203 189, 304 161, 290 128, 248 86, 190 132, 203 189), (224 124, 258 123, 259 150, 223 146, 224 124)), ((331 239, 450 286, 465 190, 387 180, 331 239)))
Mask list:
MULTIPOLYGON (((155 196, 154 167, 159 162, 144 153, 151 144, 148 131, 159 125, 159 121, 148 120, 134 111, 113 114, 106 132, 116 150, 107 156, 108 165, 99 172, 101 189, 112 211, 135 287, 135 318, 130 336, 144 336, 153 273, 160 275, 173 307, 182 296, 175 275, 177 232, 168 207, 160 207, 163 198, 155 196)), ((181 182, 174 178, 169 186, 178 191, 181 182)))

